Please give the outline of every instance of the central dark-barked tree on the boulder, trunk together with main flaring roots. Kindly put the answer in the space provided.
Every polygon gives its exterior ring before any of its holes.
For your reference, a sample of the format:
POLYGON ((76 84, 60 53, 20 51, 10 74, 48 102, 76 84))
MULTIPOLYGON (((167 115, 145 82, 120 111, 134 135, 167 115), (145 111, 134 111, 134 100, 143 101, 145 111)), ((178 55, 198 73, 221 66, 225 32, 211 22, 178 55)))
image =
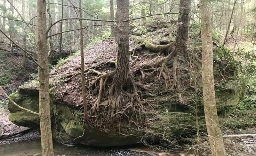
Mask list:
MULTIPOLYGON (((118 0, 116 6, 116 18, 118 20, 128 19, 129 0, 118 0)), ((113 83, 108 93, 108 114, 106 117, 108 121, 111 121, 115 115, 118 115, 116 112, 118 112, 119 107, 121 107, 120 104, 130 103, 132 101, 132 105, 138 106, 138 109, 142 108, 140 97, 132 80, 132 76, 130 75, 129 23, 121 22, 118 24, 118 26, 116 26, 115 30, 115 38, 116 41, 118 41, 116 69, 110 73, 100 75, 95 81, 92 82, 93 85, 100 79, 100 91, 98 99, 92 108, 92 112, 96 114, 100 109, 100 99, 102 96, 104 79, 106 82, 109 77, 113 77, 113 83)))

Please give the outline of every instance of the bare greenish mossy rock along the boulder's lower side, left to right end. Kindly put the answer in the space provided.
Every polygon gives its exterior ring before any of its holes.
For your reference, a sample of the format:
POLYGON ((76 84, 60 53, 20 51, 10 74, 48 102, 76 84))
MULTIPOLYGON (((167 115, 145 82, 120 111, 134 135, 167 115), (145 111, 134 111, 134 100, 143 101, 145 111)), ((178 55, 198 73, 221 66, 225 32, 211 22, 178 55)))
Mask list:
MULTIPOLYGON (((216 102, 217 102, 217 110, 220 117, 228 117, 232 110, 236 107, 236 104, 240 101, 243 92, 239 92, 236 90, 221 90, 216 92, 216 102), (221 106, 221 107, 220 107, 221 106)), ((38 90, 35 87, 35 83, 33 85, 22 85, 19 87, 19 90, 10 95, 12 100, 19 104, 20 106, 27 108, 29 110, 38 112, 39 111, 39 102, 38 102, 38 90)), ((192 112, 188 107, 181 108, 177 105, 169 105, 171 101, 167 101, 165 103, 159 103, 164 105, 168 105, 169 112, 166 114, 166 117, 170 117, 169 119, 162 118, 165 122, 164 124, 168 124, 168 122, 179 122, 180 124, 186 123, 191 124, 192 126, 195 124, 194 119, 179 119, 176 120, 172 118, 171 113, 173 112, 184 112, 189 113, 192 112)), ((14 106, 12 103, 8 104, 8 109, 11 112, 9 119, 11 122, 17 125, 32 127, 36 130, 40 130, 39 117, 33 114, 29 114, 27 112, 21 111, 19 108, 14 106)), ((90 126, 86 126, 85 133, 83 135, 83 121, 78 116, 80 115, 81 108, 70 107, 65 103, 62 103, 60 100, 55 99, 51 96, 51 121, 52 121, 52 135, 53 138, 62 143, 67 144, 84 144, 84 145, 93 145, 93 146, 121 146, 121 145, 129 145, 140 142, 140 140, 144 136, 144 132, 133 132, 133 134, 128 134, 126 129, 124 128, 127 125, 127 121, 122 120, 123 128, 121 129, 121 133, 119 132, 111 132, 107 133, 105 131, 99 131, 90 126), (79 136, 82 136, 77 138, 79 136), (77 138, 75 141, 73 141, 77 138)), ((203 109, 199 109, 198 114, 203 115, 203 109)), ((184 117, 184 116, 183 116, 184 117)), ((200 121, 200 123, 204 123, 204 121, 200 121)), ((159 129, 163 125, 158 125, 157 123, 149 126, 150 129, 159 129)), ((202 128, 202 127, 201 127, 202 128)), ((204 127, 202 129, 205 129, 204 127)), ((170 131, 174 135, 180 135, 181 129, 180 127, 172 128, 170 131)), ((183 130, 185 132, 185 130, 183 130)), ((188 132, 194 132, 189 130, 188 132)))

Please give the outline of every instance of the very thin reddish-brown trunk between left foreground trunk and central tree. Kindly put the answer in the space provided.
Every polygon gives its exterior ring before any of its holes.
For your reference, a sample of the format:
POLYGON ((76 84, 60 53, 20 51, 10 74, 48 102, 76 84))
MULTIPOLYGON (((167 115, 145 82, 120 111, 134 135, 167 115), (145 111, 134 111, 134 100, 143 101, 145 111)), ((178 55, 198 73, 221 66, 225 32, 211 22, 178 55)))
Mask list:
MULTIPOLYGON (((79 0, 79 7, 82 8, 82 0, 79 0)), ((82 18, 82 10, 79 9, 79 16, 82 18)), ((80 21, 80 28, 83 27, 83 21, 80 21)), ((85 78, 84 78, 84 39, 83 39, 83 29, 80 29, 80 52, 81 52, 81 81, 82 81, 82 94, 84 103, 84 121, 88 121, 88 111, 86 102, 86 92, 85 92, 85 78)))

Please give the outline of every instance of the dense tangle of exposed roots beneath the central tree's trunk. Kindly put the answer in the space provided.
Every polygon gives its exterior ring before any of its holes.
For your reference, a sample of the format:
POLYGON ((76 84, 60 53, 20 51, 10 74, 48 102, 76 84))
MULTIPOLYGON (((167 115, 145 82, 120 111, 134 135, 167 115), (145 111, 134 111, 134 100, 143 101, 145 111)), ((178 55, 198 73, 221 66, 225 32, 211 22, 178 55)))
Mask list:
MULTIPOLYGON (((90 113, 91 116, 93 115, 97 117, 94 118, 94 122, 98 123, 98 118, 100 116, 105 124, 113 124, 121 117, 126 117, 130 122, 129 124, 135 124, 136 122, 134 122, 134 119, 137 122, 142 121, 140 113, 144 112, 144 110, 140 102, 140 96, 132 79, 130 80, 132 84, 130 93, 128 91, 116 91, 113 83, 110 83, 110 86, 108 86, 111 79, 113 80, 116 70, 109 73, 101 73, 94 69, 90 69, 89 71, 98 74, 98 77, 90 83, 90 89, 97 88, 99 90, 97 100, 93 104, 90 113), (98 84, 98 82, 100 83, 98 84), (104 99, 108 100, 104 101, 104 99), (101 103, 101 101, 104 102, 101 103), (139 113, 137 114, 137 112, 139 113)), ((136 123, 136 125, 137 124, 138 123, 136 123)), ((120 128, 120 126, 117 127, 120 128)))

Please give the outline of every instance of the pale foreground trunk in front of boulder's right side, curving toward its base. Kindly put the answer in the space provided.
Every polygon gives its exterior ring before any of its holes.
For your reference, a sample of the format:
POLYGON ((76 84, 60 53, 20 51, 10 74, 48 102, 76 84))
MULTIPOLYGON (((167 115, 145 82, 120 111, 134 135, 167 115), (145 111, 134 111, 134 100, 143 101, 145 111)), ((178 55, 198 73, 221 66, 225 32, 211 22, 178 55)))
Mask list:
POLYGON ((225 146, 221 136, 217 115, 212 54, 212 16, 209 0, 201 0, 201 36, 202 36, 202 79, 204 95, 204 115, 213 156, 225 156, 225 146))

